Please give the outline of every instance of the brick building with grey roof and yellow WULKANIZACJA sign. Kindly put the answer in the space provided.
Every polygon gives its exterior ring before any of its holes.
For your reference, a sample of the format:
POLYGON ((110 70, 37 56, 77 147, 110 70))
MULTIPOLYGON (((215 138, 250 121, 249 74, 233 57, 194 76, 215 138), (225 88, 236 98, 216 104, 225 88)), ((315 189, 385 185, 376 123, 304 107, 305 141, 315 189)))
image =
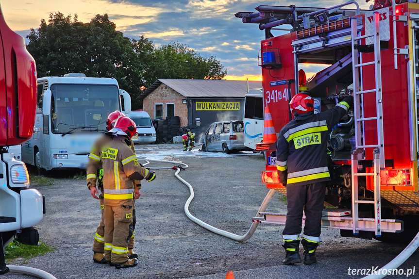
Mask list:
MULTIPOLYGON (((249 82, 249 89, 262 82, 249 82)), ((243 119, 246 81, 158 79, 139 98, 151 118, 179 116, 181 126, 202 126, 213 122, 243 119)))

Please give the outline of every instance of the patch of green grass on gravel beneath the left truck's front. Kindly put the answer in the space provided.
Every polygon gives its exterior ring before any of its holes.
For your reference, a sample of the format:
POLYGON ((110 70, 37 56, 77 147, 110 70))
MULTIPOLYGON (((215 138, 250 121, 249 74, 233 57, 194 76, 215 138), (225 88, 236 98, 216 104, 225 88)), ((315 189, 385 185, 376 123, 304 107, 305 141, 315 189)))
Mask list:
POLYGON ((44 255, 47 252, 53 252, 54 248, 41 242, 40 246, 24 245, 16 240, 9 243, 4 248, 6 260, 13 260, 16 258, 30 259, 38 255, 44 255))

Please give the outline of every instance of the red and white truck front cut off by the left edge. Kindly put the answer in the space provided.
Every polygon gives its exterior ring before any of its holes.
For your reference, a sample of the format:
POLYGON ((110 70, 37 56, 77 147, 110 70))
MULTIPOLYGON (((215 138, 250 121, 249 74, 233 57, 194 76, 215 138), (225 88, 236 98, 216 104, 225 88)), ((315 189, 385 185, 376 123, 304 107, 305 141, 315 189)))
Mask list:
POLYGON ((0 275, 9 268, 3 246, 15 237, 37 245, 38 224, 45 213, 43 196, 29 189, 23 162, 16 161, 8 146, 29 140, 34 131, 36 109, 36 67, 24 39, 4 21, 0 10, 0 275))

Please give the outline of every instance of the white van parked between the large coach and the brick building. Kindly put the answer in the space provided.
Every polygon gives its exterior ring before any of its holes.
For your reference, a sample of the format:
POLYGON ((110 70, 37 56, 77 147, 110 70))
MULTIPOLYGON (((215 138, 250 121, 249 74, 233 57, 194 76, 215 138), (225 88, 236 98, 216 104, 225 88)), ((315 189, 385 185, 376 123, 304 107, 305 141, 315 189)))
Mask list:
POLYGON ((137 124, 137 133, 132 140, 134 143, 154 143, 156 142, 156 130, 151 122, 150 115, 146 112, 133 111, 127 115, 137 124))

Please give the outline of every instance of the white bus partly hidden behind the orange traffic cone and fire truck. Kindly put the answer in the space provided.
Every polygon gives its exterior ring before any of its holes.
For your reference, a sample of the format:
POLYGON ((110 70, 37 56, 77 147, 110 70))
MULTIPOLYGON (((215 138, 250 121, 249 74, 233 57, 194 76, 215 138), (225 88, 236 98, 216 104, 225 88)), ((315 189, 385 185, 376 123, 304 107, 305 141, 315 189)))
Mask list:
POLYGON ((263 91, 250 89, 244 98, 244 146, 254 150, 263 140, 263 91))

